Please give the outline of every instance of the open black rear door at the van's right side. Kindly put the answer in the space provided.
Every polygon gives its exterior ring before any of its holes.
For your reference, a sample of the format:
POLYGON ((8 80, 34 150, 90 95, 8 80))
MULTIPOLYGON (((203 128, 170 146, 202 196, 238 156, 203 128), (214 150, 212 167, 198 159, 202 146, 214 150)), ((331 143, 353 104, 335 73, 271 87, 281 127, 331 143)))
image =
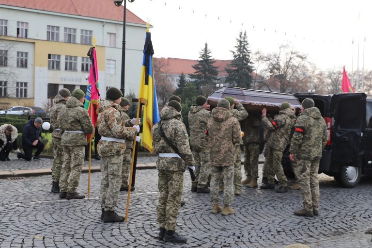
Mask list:
POLYGON ((340 165, 361 166, 359 152, 366 126, 366 99, 364 93, 333 95, 331 111, 333 162, 340 165))

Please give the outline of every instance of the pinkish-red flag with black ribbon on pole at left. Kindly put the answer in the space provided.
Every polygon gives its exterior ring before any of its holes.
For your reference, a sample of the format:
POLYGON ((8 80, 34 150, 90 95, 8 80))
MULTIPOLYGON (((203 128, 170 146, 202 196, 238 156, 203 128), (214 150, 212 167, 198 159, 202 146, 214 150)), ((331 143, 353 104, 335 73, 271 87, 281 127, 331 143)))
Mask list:
MULTIPOLYGON (((98 105, 99 105, 99 84, 98 84, 98 67, 97 67, 97 56, 95 48, 91 48, 88 51, 88 56, 92 61, 91 71, 88 78, 87 93, 85 96, 84 108, 88 110, 88 114, 92 119, 93 126, 97 122, 98 117, 98 105)), ((89 140, 90 135, 87 135, 89 140)))

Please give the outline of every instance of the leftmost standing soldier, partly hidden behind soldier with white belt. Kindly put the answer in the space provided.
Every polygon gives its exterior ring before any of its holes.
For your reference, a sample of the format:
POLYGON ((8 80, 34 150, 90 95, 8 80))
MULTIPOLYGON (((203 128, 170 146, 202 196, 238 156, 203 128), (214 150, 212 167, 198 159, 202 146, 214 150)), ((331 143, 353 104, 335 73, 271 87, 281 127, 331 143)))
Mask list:
POLYGON ((61 129, 57 125, 57 119, 60 111, 66 101, 71 96, 68 89, 61 89, 54 98, 54 106, 50 109, 50 125, 52 126, 52 145, 53 145, 53 165, 52 165, 52 192, 60 193, 60 176, 62 168, 62 146, 61 146, 61 129))

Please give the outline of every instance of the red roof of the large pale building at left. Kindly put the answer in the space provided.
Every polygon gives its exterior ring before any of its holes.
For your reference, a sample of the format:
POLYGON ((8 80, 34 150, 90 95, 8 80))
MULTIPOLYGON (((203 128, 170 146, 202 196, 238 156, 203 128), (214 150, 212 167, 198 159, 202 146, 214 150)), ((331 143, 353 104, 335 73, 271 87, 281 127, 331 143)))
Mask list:
MULTIPOLYGON (((0 0, 0 4, 115 21, 124 19, 124 6, 116 7, 113 0, 0 0)), ((146 25, 145 21, 128 9, 126 22, 146 25)))

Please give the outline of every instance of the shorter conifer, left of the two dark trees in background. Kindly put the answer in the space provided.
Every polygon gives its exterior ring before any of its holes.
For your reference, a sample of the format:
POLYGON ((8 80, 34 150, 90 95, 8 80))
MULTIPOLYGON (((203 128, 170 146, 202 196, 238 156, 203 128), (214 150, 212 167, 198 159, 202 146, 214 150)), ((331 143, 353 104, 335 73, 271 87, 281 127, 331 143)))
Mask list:
POLYGON ((200 86, 213 85, 218 76, 217 66, 213 66, 215 61, 210 55, 211 50, 208 49, 206 42, 204 49, 199 54, 200 60, 198 60, 198 64, 192 66, 195 69, 195 73, 189 74, 190 78, 194 79, 194 83, 198 89, 200 86))

